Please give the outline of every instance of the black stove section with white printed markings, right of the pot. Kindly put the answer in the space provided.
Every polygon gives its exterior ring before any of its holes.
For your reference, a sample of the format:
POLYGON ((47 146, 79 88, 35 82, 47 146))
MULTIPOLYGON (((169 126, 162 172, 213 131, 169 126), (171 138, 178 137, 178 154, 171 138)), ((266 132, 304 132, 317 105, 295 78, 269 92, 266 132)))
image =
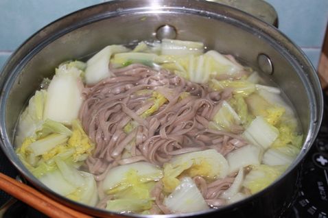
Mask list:
POLYGON ((325 95, 323 122, 318 137, 303 164, 298 197, 292 218, 328 217, 328 97, 325 95))

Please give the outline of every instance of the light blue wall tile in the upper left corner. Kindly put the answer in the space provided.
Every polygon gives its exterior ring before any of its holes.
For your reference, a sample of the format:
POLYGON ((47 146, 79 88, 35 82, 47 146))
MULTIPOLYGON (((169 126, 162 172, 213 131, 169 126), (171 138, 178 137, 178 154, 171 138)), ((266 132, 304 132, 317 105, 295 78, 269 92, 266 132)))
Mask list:
POLYGON ((102 0, 1 0, 0 51, 14 50, 51 21, 102 0))

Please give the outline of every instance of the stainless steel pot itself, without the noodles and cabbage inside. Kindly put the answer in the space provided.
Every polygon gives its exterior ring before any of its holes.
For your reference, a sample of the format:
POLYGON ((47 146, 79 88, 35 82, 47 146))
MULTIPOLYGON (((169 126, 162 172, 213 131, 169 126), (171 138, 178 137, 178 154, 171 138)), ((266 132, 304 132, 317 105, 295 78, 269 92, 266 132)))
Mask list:
POLYGON ((84 58, 106 45, 156 40, 156 37, 163 36, 202 41, 208 48, 231 53, 239 61, 263 71, 282 88, 295 106, 305 134, 301 153, 281 178, 267 189, 217 210, 179 216, 279 217, 292 203, 301 162, 320 127, 323 113, 320 83, 301 49, 281 32, 253 16, 218 3, 191 0, 110 1, 69 14, 41 29, 13 53, 1 73, 3 151, 40 191, 85 213, 102 217, 109 215, 108 211, 83 206, 57 195, 27 171, 12 145, 16 121, 41 80, 50 77, 61 62, 84 58))

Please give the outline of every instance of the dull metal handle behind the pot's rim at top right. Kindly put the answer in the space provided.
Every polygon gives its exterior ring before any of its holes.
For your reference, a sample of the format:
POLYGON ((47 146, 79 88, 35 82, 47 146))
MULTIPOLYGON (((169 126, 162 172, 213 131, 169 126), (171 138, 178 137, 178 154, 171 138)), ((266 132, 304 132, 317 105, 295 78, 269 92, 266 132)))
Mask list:
POLYGON ((278 14, 272 5, 263 0, 207 0, 222 3, 251 14, 258 19, 278 27, 278 14))

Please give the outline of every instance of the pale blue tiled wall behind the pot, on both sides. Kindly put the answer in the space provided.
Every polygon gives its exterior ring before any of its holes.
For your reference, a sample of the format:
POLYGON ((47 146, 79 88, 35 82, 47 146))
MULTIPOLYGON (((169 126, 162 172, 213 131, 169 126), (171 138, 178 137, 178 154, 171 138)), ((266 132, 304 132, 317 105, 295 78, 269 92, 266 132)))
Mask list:
MULTIPOLYGON (((41 27, 103 1, 106 0, 0 0, 0 67, 12 51, 41 27)), ((328 20, 328 0, 266 1, 278 12, 279 29, 318 66, 328 20)))

